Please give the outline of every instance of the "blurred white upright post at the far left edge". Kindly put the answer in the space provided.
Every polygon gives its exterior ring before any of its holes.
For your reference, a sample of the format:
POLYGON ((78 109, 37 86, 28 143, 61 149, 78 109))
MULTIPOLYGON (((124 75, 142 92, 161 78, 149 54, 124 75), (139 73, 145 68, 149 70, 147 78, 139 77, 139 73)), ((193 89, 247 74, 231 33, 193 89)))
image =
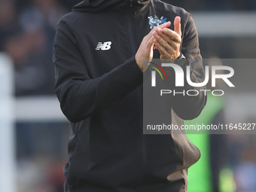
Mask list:
POLYGON ((0 191, 15 192, 15 139, 13 69, 11 59, 0 53, 0 191))

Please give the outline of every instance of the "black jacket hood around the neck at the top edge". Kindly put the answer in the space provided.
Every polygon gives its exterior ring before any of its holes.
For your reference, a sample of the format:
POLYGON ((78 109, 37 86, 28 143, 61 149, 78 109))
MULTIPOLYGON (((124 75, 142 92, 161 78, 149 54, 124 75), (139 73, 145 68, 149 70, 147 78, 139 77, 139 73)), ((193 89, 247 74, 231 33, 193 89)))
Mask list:
POLYGON ((106 9, 117 9, 126 6, 139 5, 143 7, 151 0, 84 0, 72 8, 72 11, 100 12, 106 9))

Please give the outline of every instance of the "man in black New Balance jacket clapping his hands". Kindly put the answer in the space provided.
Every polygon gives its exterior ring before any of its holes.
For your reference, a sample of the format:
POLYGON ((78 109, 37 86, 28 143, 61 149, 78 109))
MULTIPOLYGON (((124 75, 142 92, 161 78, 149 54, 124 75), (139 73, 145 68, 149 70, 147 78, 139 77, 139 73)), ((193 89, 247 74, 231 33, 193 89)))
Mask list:
MULTIPOLYGON (((143 61, 181 57, 191 81, 202 82, 194 21, 159 0, 84 0, 62 17, 53 61, 56 95, 72 124, 66 192, 187 191, 198 148, 185 134, 144 135, 141 124, 143 61)), ((179 126, 206 103, 203 92, 174 99, 171 119, 179 126)))

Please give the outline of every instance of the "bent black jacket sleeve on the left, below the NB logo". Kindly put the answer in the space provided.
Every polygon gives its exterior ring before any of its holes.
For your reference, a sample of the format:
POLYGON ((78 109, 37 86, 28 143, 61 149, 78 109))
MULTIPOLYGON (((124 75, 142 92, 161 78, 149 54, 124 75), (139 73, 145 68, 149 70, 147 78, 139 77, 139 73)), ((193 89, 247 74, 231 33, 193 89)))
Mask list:
POLYGON ((62 20, 54 39, 55 90, 63 114, 79 122, 122 99, 143 81, 133 57, 99 78, 90 78, 72 30, 62 20))

